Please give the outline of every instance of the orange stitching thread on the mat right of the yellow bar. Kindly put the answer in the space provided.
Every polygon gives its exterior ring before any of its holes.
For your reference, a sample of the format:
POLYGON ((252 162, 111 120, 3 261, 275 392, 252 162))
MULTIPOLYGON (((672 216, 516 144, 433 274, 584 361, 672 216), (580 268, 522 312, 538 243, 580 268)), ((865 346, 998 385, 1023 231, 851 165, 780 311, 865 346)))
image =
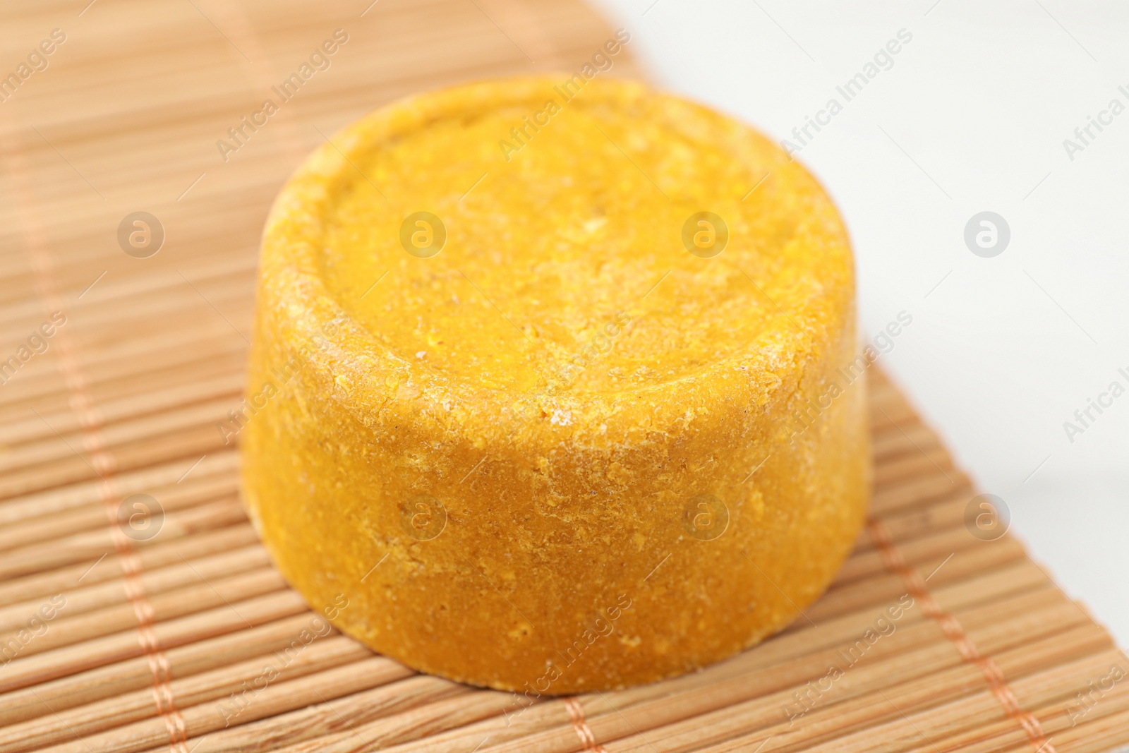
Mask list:
POLYGON ((882 524, 882 520, 877 518, 870 518, 867 520, 867 529, 870 532, 870 539, 874 541, 874 545, 882 553, 883 564, 887 570, 900 575, 905 581, 905 586, 910 592, 910 595, 921 603, 921 608, 926 616, 931 618, 940 625, 942 632, 945 638, 951 640, 955 646, 956 650, 961 653, 961 656, 965 662, 970 664, 975 664, 980 667, 980 671, 984 675, 984 680, 988 681, 988 688, 991 690, 992 695, 999 701, 999 704, 1004 707, 1004 711, 1007 716, 1012 717, 1023 727, 1024 732, 1027 733, 1027 738, 1031 741, 1032 746, 1034 746, 1036 753, 1056 753, 1054 746, 1050 744, 1047 736, 1043 734, 1043 727, 1039 724, 1039 719, 1029 711, 1019 708, 1019 702, 1015 698, 1015 693, 1008 686, 1007 681, 1004 680, 1004 673, 1000 672, 999 666, 988 656, 981 656, 980 651, 977 650, 975 643, 969 638, 968 633, 964 632, 964 628, 961 625, 960 621, 954 618, 948 612, 940 608, 936 599, 929 593, 928 587, 925 585, 925 580, 921 575, 905 563, 905 559, 902 553, 898 551, 894 546, 892 540, 890 539, 890 532, 886 531, 886 526, 882 524))

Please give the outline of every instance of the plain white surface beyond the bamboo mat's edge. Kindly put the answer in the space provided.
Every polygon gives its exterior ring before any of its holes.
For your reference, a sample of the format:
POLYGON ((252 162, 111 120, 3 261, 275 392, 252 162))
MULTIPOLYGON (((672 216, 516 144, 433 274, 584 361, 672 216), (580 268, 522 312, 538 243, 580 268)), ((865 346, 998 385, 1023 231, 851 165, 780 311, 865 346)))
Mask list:
POLYGON ((847 219, 865 333, 913 316, 879 364, 1129 646, 1129 394, 1073 444, 1062 426, 1112 380, 1129 387, 1129 111, 1073 160, 1062 145, 1112 98, 1129 107, 1129 3, 602 5, 656 84, 778 141, 913 35, 797 158, 847 219), (963 239, 984 210, 1012 231, 994 259, 963 239))

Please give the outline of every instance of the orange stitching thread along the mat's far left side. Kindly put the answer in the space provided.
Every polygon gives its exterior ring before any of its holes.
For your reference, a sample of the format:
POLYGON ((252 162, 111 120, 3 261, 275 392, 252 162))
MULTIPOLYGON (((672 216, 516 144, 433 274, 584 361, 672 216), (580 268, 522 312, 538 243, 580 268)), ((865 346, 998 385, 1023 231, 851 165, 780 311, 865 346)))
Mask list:
MULTIPOLYGON (((47 252, 43 226, 32 208, 23 200, 30 194, 27 166, 24 164, 25 158, 11 143, 3 143, 0 151, 5 155, 8 174, 19 184, 20 190, 16 192, 16 195, 24 220, 23 230, 29 251, 28 261, 35 272, 40 298, 46 304, 49 312, 64 310, 62 298, 55 286, 54 264, 47 252)), ((176 708, 175 698, 169 686, 172 676, 168 657, 160 649, 160 642, 152 630, 154 611, 152 604, 146 596, 145 584, 141 583, 141 561, 133 550, 133 543, 122 529, 117 516, 117 507, 122 500, 114 479, 117 462, 106 447, 105 437, 102 434, 102 415, 90 400, 87 389, 88 383, 78 359, 75 357, 69 332, 70 330, 64 327, 56 331, 59 371, 70 393, 68 400, 70 408, 78 415, 79 424, 82 428, 82 445, 90 457, 95 473, 102 480, 98 487, 99 500, 106 517, 110 518, 110 533, 114 542, 114 551, 121 562, 125 595, 138 621, 138 642, 141 645, 141 650, 149 663, 149 672, 152 674, 154 704, 168 728, 169 750, 176 753, 187 753, 187 729, 184 718, 176 708)))

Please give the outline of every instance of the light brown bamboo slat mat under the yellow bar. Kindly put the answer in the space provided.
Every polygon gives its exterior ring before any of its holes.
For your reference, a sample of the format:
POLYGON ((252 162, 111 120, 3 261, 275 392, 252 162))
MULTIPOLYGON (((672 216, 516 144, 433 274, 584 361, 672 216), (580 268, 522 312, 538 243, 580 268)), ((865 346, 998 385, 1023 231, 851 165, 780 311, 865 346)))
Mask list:
MULTIPOLYGON (((217 430, 268 205, 373 107, 575 71, 612 29, 576 0, 87 2, 0 14, 0 75, 20 77, 0 86, 0 359, 17 362, 0 368, 0 753, 1129 742, 1129 660, 1013 539, 971 533, 970 480, 876 368, 872 522, 826 595, 755 649, 523 706, 331 630, 268 561, 217 430), (217 140, 336 29, 329 68, 225 160, 217 140), (142 211, 164 243, 123 253, 142 211)), ((638 75, 629 54, 613 75, 638 75)))

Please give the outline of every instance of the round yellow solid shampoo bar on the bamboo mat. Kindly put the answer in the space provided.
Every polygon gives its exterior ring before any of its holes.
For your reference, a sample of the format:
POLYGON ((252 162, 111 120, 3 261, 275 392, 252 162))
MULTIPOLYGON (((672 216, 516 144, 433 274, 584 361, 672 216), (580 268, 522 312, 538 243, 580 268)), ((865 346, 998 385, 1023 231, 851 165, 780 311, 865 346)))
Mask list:
POLYGON ((239 431, 315 610, 531 698, 779 631, 869 489, 819 184, 700 105, 564 80, 412 97, 309 157, 266 224, 239 431))

